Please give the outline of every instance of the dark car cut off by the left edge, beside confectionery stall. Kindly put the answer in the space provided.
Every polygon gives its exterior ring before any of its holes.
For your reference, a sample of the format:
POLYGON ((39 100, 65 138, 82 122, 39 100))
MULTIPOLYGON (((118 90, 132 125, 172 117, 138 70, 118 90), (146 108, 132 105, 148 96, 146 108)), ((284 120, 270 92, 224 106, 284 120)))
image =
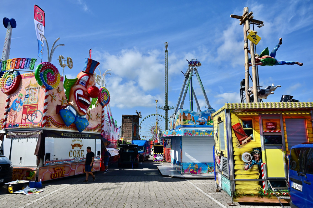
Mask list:
POLYGON ((0 187, 4 183, 12 181, 13 165, 12 162, 0 151, 0 187))

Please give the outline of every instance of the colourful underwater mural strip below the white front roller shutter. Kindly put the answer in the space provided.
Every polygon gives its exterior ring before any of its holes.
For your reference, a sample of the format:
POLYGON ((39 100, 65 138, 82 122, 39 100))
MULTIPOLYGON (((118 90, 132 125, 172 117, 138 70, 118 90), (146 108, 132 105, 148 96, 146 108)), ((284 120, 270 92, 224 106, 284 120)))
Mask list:
POLYGON ((183 162, 182 174, 214 174, 213 162, 183 162))

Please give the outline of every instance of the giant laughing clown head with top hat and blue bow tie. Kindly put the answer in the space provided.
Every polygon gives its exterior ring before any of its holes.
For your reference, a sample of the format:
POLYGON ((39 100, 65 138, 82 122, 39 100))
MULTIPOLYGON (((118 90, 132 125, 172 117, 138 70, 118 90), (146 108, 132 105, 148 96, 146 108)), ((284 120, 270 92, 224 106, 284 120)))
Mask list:
POLYGON ((86 113, 91 104, 91 99, 98 97, 99 94, 93 76, 94 70, 99 64, 95 60, 86 58, 84 70, 75 79, 67 79, 65 76, 63 86, 68 106, 61 109, 59 114, 66 126, 74 123, 79 132, 82 132, 89 125, 86 113))

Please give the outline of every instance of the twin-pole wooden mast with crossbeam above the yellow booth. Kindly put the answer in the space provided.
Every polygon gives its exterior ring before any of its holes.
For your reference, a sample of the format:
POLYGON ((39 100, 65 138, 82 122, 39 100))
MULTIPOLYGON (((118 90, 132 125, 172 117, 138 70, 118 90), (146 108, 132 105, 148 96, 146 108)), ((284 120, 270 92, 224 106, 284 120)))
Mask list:
MULTIPOLYGON (((244 14, 242 16, 239 15, 230 15, 230 17, 239 19, 239 25, 244 25, 244 63, 245 63, 245 91, 246 91, 246 101, 250 103, 250 97, 248 95, 249 89, 249 50, 248 50, 248 38, 247 32, 251 32, 250 30, 250 22, 263 24, 263 21, 255 20, 252 16, 253 12, 249 13, 249 8, 244 7, 244 14)), ((253 31, 257 33, 257 31, 253 31)), ((257 88, 257 73, 255 66, 255 58, 254 58, 254 44, 250 41, 250 54, 251 54, 251 65, 252 65, 252 82, 253 82, 253 97, 254 102, 258 102, 258 88, 257 88)))

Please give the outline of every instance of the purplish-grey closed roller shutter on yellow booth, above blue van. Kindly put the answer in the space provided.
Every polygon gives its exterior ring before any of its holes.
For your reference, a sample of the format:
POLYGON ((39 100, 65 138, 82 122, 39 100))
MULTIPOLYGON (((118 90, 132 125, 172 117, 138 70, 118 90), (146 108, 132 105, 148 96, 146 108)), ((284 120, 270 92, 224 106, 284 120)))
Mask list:
POLYGON ((305 119, 285 119, 288 149, 308 141, 305 119))

